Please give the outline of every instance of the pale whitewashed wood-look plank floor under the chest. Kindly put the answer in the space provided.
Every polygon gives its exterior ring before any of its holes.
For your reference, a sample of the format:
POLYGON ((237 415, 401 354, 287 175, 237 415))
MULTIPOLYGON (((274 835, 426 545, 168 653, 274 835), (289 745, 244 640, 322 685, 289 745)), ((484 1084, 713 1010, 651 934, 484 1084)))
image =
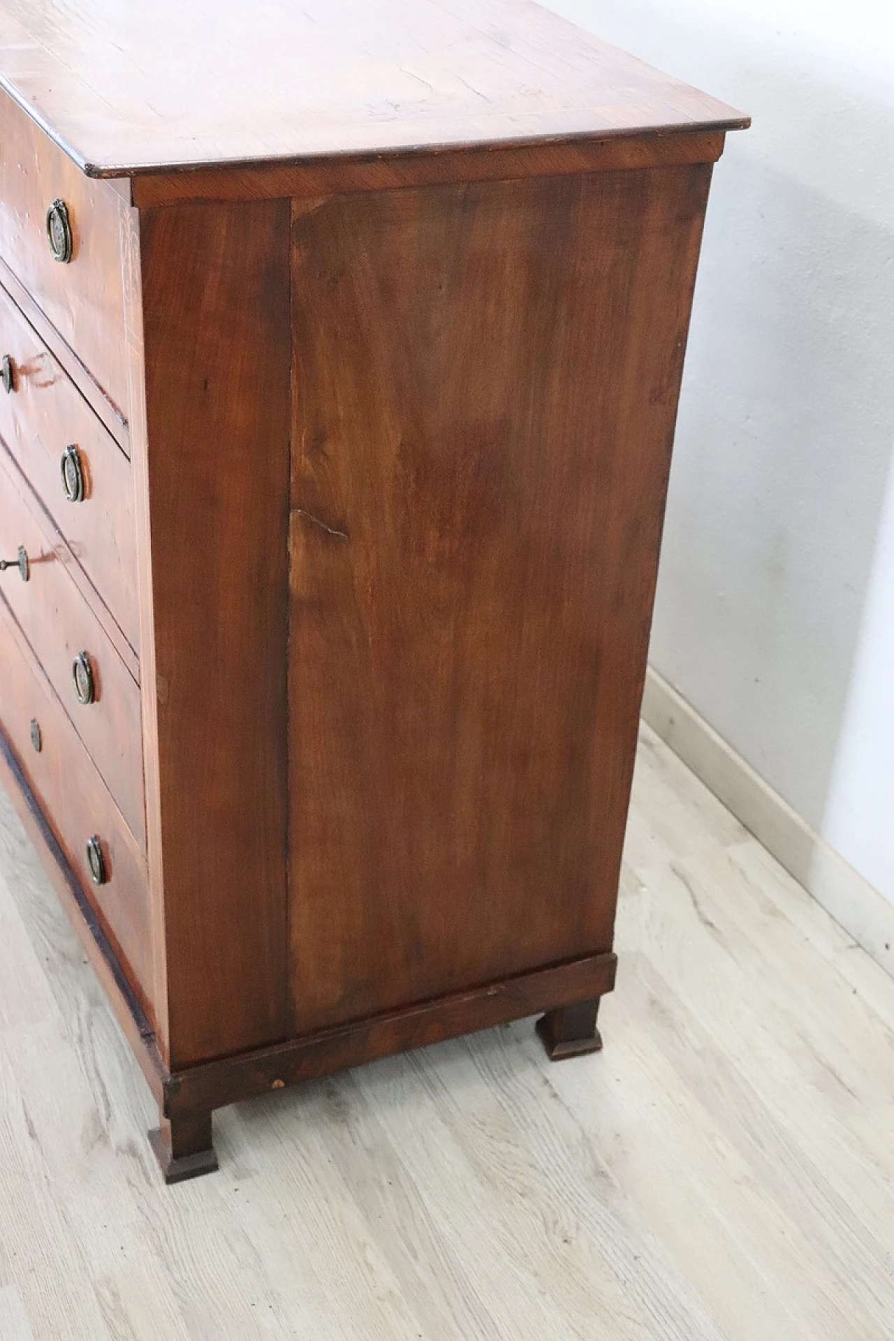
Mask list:
POLYGON ((599 1055, 532 1022, 154 1113, 0 802, 0 1341, 894 1337, 894 980, 643 728, 599 1055))

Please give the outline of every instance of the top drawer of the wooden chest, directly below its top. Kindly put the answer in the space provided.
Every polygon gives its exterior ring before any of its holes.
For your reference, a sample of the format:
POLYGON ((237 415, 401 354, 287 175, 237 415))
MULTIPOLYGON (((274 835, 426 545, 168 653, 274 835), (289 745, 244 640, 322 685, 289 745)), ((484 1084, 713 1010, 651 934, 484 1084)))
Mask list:
POLYGON ((0 257, 43 308, 122 417, 127 414, 121 213, 117 190, 91 181, 0 93, 0 257), (47 209, 66 205, 71 260, 54 260, 47 209))

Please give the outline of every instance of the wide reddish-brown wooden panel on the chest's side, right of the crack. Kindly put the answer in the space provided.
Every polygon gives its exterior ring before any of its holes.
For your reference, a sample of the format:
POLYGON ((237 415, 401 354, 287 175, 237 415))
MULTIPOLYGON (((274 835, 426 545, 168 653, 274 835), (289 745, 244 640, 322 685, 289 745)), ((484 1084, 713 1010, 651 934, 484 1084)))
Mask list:
POLYGON ((295 204, 299 1033, 611 949, 709 181, 295 204))

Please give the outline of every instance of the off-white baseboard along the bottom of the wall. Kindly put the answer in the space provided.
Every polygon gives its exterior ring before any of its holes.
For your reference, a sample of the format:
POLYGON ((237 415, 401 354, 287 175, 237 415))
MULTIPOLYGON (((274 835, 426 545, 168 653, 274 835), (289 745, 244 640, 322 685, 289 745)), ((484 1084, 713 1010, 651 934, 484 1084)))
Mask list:
POLYGON ((894 904, 830 848, 651 666, 642 716, 856 944, 894 976, 894 904))

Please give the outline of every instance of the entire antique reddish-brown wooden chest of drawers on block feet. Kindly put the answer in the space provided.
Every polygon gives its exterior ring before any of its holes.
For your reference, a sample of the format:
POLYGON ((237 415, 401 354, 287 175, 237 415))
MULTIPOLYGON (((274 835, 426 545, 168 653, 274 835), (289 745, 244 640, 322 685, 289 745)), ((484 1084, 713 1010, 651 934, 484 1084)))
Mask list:
POLYGON ((747 123, 523 0, 288 11, 0 3, 0 755, 169 1180, 303 1077, 599 1046, 747 123))

